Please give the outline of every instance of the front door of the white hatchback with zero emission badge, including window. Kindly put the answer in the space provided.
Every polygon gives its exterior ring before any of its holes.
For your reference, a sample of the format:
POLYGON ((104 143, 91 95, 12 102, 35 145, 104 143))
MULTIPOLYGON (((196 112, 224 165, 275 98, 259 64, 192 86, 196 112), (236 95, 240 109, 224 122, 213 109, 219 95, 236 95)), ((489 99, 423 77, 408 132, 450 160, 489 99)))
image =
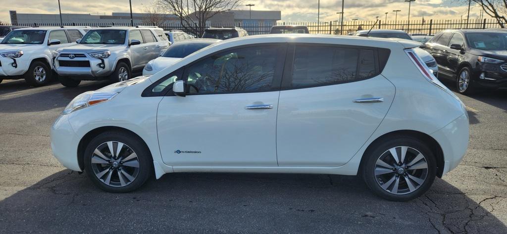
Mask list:
POLYGON ((250 45, 185 68, 185 97, 159 104, 157 130, 170 166, 277 166, 276 113, 285 46, 250 45))

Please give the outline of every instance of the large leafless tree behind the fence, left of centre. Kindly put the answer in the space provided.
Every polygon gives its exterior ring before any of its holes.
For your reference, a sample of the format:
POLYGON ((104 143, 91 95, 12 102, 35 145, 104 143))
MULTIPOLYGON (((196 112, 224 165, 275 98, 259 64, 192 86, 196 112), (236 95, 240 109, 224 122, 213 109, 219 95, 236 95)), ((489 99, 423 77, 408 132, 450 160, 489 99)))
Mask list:
POLYGON ((236 9, 242 0, 157 0, 158 6, 179 18, 186 31, 202 35, 206 21, 236 9))

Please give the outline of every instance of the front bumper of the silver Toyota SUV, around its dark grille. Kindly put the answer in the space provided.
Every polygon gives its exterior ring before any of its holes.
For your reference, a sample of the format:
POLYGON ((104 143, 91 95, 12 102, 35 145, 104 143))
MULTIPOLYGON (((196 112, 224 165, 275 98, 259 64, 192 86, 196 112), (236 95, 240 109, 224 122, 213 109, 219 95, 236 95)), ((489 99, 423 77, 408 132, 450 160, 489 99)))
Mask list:
POLYGON ((71 76, 74 80, 104 80, 104 78, 113 73, 115 69, 115 61, 112 61, 110 59, 111 57, 98 59, 92 58, 86 53, 75 53, 75 56, 79 55, 85 57, 75 57, 71 59, 68 56, 62 56, 63 54, 69 55, 73 53, 65 52, 58 55, 58 57, 54 59, 55 71, 61 76, 71 76), (82 64, 67 66, 67 64, 64 63, 82 64), (83 66, 83 63, 87 65, 83 66))

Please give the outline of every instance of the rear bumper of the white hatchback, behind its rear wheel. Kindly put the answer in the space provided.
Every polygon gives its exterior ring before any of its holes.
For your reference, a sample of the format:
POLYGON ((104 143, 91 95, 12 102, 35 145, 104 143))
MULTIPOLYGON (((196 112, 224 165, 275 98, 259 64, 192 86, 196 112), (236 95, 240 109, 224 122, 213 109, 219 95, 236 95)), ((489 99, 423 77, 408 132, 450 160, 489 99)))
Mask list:
POLYGON ((442 175, 456 168, 468 148, 468 116, 463 114, 444 128, 430 134, 440 144, 444 153, 444 170, 442 175))

